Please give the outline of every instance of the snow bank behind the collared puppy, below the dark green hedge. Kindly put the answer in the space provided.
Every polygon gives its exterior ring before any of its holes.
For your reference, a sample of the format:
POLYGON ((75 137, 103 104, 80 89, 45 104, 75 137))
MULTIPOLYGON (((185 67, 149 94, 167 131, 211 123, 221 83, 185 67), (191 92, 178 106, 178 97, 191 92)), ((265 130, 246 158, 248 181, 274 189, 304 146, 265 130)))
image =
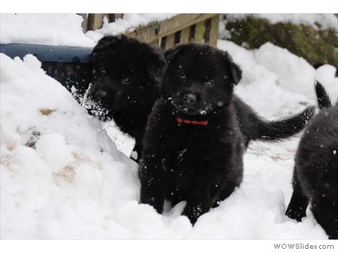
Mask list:
POLYGON ((235 92, 268 119, 291 115, 315 102, 314 79, 322 82, 332 98, 338 96, 337 69, 323 65, 317 70, 303 58, 267 42, 247 50, 231 41, 218 40, 243 70, 235 92), (252 96, 254 94, 254 96, 252 96))

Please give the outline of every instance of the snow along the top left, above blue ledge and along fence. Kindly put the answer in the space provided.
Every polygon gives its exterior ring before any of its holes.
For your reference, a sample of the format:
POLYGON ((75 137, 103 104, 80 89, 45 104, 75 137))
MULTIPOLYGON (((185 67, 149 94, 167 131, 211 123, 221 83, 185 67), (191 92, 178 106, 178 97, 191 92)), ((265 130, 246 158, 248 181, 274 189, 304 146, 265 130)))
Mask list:
POLYGON ((95 31, 82 32, 82 16, 75 14, 1 14, 0 43, 28 43, 54 46, 95 46, 104 34, 118 34, 175 14, 124 14, 95 31), (53 27, 53 29, 51 29, 53 27))

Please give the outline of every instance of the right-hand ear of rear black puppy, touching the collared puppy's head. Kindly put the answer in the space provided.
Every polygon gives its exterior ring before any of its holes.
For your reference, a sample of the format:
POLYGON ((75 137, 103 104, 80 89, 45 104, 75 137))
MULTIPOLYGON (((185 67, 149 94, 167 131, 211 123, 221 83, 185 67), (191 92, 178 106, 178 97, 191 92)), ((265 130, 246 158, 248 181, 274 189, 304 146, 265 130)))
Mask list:
POLYGON ((155 82, 155 84, 161 82, 166 66, 167 63, 162 54, 156 49, 151 48, 151 52, 149 52, 149 55, 146 57, 146 68, 150 79, 155 82))

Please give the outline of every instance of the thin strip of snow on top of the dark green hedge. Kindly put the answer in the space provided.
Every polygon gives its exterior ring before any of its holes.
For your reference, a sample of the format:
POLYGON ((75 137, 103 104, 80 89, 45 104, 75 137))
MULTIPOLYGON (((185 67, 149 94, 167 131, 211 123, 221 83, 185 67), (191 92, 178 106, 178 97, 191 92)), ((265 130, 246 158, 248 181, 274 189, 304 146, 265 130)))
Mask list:
MULTIPOLYGON (((332 6, 333 7, 333 6, 332 6)), ((257 13, 257 14, 226 14, 227 21, 231 20, 241 20, 247 16, 252 16, 253 18, 265 18, 269 20, 272 24, 277 22, 292 22, 295 25, 311 25, 313 28, 318 30, 318 28, 327 29, 331 28, 338 30, 338 18, 334 14, 325 13, 325 14, 307 14, 307 13, 284 13, 284 14, 268 14, 268 13, 257 13), (320 26, 318 26, 318 24, 320 26)))

